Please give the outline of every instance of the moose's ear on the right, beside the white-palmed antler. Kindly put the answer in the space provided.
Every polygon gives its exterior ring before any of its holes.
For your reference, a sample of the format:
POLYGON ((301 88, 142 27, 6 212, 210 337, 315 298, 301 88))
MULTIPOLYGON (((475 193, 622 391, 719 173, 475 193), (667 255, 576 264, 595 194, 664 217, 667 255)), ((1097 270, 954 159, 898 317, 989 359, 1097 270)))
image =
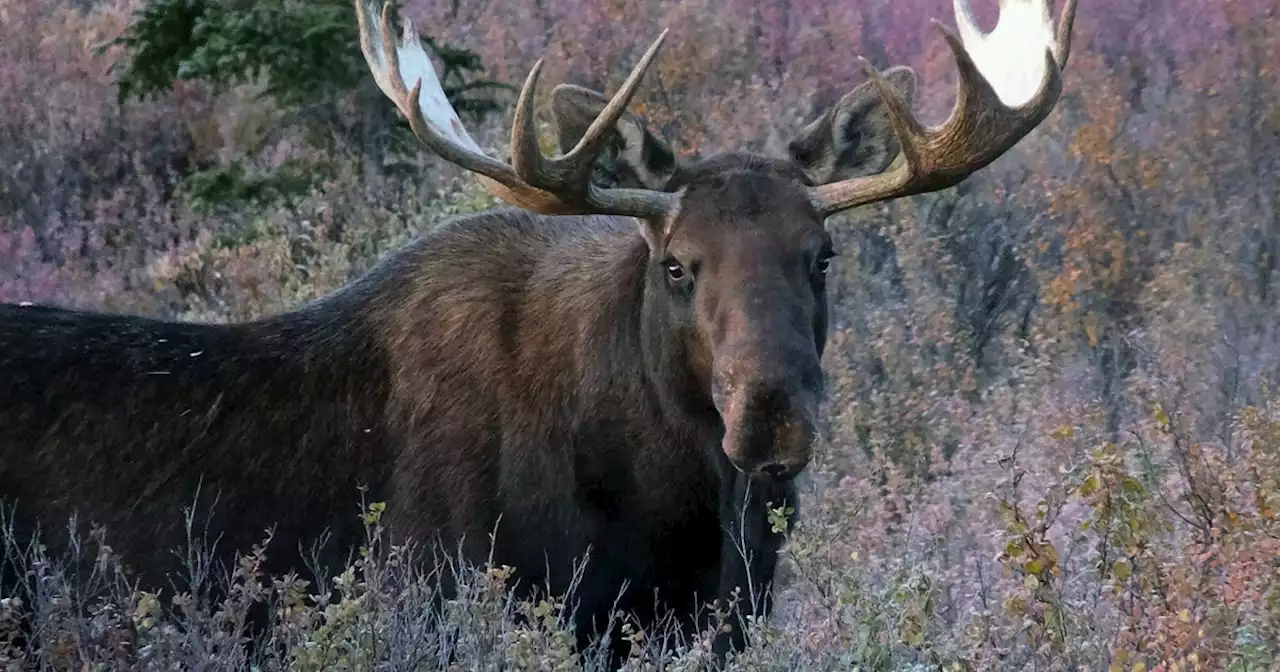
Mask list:
MULTIPOLYGON (((897 65, 881 76, 910 106, 915 99, 915 70, 897 65)), ((884 172, 901 145, 884 101, 868 81, 800 129, 787 151, 814 184, 826 184, 884 172)))

